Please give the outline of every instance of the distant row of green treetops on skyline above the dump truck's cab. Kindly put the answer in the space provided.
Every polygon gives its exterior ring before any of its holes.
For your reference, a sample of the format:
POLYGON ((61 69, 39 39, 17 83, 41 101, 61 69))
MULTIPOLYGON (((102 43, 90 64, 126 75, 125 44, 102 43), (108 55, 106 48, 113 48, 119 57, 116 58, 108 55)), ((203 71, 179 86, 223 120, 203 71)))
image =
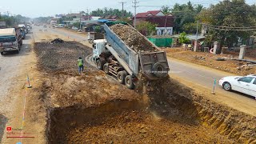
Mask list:
MULTIPOLYGON (((98 17, 104 17, 104 16, 108 16, 108 15, 116 15, 121 18, 122 10, 112 9, 112 8, 108 9, 105 7, 103 9, 93 10, 90 14, 94 15, 94 16, 98 16, 98 17)), ((133 16, 133 14, 130 11, 126 11, 126 10, 123 10, 123 14, 124 14, 125 18, 133 16)))

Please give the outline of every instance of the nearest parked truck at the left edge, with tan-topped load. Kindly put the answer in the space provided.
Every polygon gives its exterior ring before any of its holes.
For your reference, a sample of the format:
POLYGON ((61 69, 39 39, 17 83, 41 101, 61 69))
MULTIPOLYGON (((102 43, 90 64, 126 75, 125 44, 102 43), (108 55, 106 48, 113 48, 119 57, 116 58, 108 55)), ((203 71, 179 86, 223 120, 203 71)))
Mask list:
POLYGON ((22 34, 19 29, 0 29, 0 53, 15 51, 17 54, 21 50, 22 34))

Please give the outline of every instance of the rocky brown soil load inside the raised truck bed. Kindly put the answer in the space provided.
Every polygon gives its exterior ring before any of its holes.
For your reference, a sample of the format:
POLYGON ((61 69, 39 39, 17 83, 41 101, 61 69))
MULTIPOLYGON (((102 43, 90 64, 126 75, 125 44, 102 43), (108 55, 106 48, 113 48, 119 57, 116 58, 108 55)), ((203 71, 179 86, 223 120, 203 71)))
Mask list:
POLYGON ((132 50, 138 51, 158 51, 150 42, 148 42, 137 30, 134 30, 131 26, 115 24, 110 26, 115 34, 122 39, 132 50))

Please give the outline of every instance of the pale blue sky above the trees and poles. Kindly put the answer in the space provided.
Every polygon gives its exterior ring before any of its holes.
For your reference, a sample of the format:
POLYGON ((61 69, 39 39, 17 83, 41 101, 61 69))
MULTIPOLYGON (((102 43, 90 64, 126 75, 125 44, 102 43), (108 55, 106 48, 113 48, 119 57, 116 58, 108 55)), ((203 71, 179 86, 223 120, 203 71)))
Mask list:
MULTIPOLYGON (((0 12, 6 14, 22 14, 24 16, 35 18, 39 16, 54 16, 54 14, 68 14, 70 12, 78 12, 86 9, 96 10, 97 8, 118 8, 122 9, 122 5, 118 2, 126 2, 125 10, 134 13, 134 0, 1 0, 0 12)), ((173 6, 176 2, 183 4, 188 0, 138 0, 137 12, 147 10, 159 10, 161 6, 173 6)), ((216 4, 219 0, 190 0, 193 4, 202 4, 207 7, 210 4, 216 4)), ((254 4, 255 0, 246 0, 249 4, 254 4)))

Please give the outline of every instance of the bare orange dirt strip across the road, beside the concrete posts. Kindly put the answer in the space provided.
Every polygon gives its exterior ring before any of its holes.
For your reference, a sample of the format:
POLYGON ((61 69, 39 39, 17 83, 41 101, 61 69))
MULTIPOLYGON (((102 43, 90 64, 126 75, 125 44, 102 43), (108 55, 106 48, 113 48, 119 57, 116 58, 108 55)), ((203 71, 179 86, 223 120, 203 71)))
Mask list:
MULTIPOLYGON (((256 61, 256 50, 247 50, 246 59, 256 61)), ((247 75, 256 73, 256 65, 250 62, 240 62, 232 60, 238 58, 238 53, 229 52, 228 54, 210 54, 184 50, 182 48, 166 49, 166 55, 170 58, 176 58, 186 62, 192 62, 198 65, 207 66, 216 70, 226 71, 232 74, 247 75), (216 61, 216 58, 225 58, 225 61, 216 61)))

